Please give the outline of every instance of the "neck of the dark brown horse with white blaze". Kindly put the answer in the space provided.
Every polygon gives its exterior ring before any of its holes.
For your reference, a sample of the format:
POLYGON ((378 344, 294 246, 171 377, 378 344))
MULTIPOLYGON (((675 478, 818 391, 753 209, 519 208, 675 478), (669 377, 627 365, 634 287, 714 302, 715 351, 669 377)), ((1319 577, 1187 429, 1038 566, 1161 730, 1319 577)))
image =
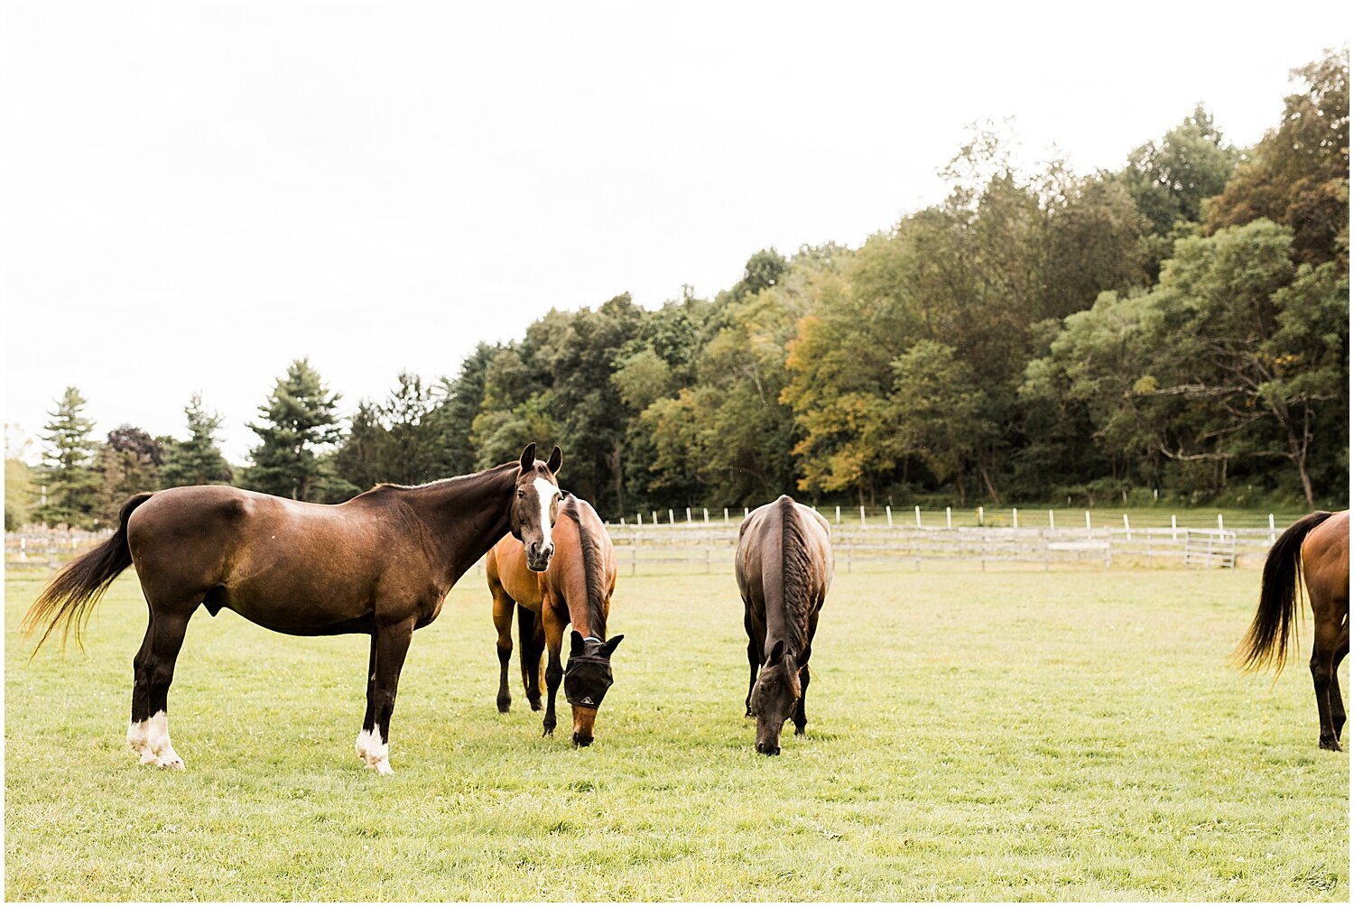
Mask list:
POLYGON ((409 506, 427 527, 425 544, 448 571, 451 588, 508 535, 517 464, 409 489, 409 506))

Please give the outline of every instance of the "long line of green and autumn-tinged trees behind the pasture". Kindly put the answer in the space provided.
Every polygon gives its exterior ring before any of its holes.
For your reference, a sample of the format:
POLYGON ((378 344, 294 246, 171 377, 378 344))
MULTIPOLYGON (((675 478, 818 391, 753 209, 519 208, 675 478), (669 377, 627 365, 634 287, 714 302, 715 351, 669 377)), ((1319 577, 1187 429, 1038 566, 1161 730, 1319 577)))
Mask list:
POLYGON ((551 310, 520 340, 481 344, 455 379, 398 376, 347 425, 298 360, 238 471, 200 399, 185 441, 123 428, 84 447, 60 428, 68 399, 45 436, 39 517, 107 520, 137 483, 338 501, 528 441, 559 444, 565 485, 605 516, 783 491, 1345 504, 1347 50, 1293 76, 1251 149, 1202 107, 1094 175, 1022 172, 1006 138, 980 133, 945 168, 942 203, 860 248, 765 249, 712 299, 686 291, 655 311, 626 294, 551 310), (77 463, 88 475, 61 479, 77 463), (83 502, 53 509, 66 486, 83 502))

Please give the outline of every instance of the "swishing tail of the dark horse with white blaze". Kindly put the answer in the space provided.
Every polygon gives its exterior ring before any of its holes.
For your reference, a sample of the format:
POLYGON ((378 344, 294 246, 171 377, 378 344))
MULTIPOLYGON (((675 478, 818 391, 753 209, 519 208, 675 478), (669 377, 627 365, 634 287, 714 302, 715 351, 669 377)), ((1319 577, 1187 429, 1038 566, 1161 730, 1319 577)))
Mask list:
POLYGON ((133 510, 150 500, 150 494, 149 491, 137 494, 123 504, 122 513, 118 516, 118 531, 112 533, 112 537, 62 567, 61 573, 51 578, 47 588, 28 608, 28 613, 19 624, 24 635, 31 636, 39 627, 46 627, 42 631, 42 639, 32 648, 34 654, 47 642, 47 636, 57 628, 57 624, 61 624, 62 651, 65 651, 66 636, 72 628, 76 632, 76 644, 80 646, 80 651, 84 651, 80 636, 89 621, 89 612, 112 581, 118 578, 118 574, 131 566, 131 548, 127 547, 127 518, 133 510))

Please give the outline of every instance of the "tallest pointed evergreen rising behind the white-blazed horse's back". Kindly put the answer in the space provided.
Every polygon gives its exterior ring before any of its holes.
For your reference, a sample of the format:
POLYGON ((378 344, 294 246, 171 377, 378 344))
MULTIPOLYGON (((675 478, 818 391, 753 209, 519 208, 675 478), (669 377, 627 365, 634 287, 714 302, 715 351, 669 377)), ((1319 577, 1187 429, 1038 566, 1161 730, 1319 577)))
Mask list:
POLYGON ((337 402, 309 359, 291 363, 259 407, 263 424, 249 424, 261 443, 249 452, 246 485, 297 501, 318 500, 325 478, 320 454, 341 439, 337 402))

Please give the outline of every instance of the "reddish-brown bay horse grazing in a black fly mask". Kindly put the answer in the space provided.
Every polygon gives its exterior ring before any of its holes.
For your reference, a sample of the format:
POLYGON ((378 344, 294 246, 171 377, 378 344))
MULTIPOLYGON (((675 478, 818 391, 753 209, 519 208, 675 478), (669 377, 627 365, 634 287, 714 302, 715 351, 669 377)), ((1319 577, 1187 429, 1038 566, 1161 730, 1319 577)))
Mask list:
POLYGON ((521 546, 504 539, 489 552, 485 577, 494 597, 498 629, 498 711, 512 704, 508 692, 508 659, 512 657, 512 615, 517 608, 521 627, 521 678, 532 709, 540 708, 540 655, 548 650, 546 667, 546 719, 543 735, 555 732, 555 692, 565 681, 565 699, 574 713, 574 745, 593 742, 597 708, 612 684, 611 654, 624 635, 607 639, 607 615, 616 590, 616 556, 611 536, 586 501, 561 500, 555 523, 555 556, 544 573, 532 573, 521 546), (569 667, 559 663, 565 627, 573 624, 569 667))

